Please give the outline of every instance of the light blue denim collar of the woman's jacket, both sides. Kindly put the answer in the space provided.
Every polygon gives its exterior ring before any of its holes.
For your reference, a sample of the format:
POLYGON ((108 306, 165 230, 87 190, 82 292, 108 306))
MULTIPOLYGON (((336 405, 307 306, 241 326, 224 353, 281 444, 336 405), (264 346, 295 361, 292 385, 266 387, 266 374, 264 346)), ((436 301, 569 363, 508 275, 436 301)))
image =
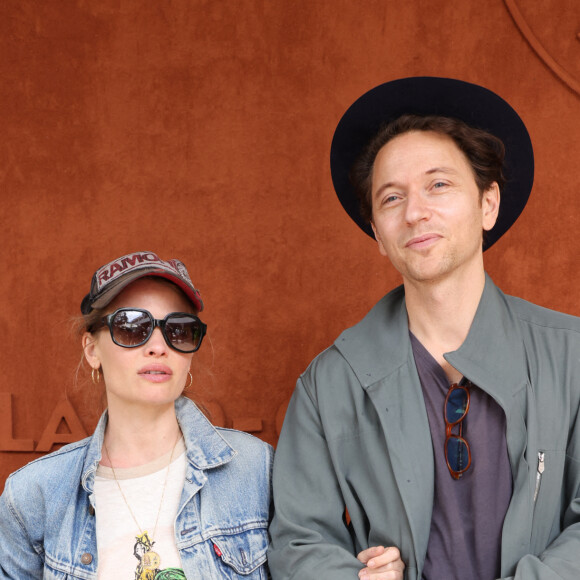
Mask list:
MULTIPOLYGON (((193 401, 180 397, 175 401, 175 413, 185 440, 187 460, 195 468, 212 469, 231 461, 237 455, 237 451, 227 443, 193 401)), ((108 420, 108 412, 105 411, 89 438, 82 476, 82 485, 89 493, 93 492, 108 420)))

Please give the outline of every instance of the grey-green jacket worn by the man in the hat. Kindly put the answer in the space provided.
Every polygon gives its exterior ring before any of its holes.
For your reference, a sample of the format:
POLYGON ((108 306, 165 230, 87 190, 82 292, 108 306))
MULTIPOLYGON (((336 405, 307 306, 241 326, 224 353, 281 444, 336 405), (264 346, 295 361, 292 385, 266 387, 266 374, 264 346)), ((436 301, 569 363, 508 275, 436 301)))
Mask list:
MULTIPOLYGON (((506 296, 487 278, 464 344, 445 358, 506 414, 513 496, 502 577, 577 580, 580 319, 506 296)), ((433 474, 400 287, 298 380, 274 462, 274 580, 355 580, 355 555, 375 545, 397 546, 405 578, 421 578, 433 474)))

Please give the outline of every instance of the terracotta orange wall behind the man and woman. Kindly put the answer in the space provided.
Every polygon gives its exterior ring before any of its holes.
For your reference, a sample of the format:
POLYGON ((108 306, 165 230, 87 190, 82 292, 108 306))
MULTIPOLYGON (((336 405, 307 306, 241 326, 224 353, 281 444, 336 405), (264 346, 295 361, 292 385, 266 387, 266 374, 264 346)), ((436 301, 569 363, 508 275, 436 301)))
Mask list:
MULTIPOLYGON (((560 3, 523 17, 580 78, 560 3)), ((94 427, 70 319, 95 268, 135 250, 181 258, 202 291, 193 398, 275 442, 299 373, 399 283, 328 168, 346 107, 389 79, 462 78, 520 112, 536 184, 487 268, 580 314, 580 97, 502 0, 3 0, 0 39, 0 489, 61 413, 73 438, 94 427)))

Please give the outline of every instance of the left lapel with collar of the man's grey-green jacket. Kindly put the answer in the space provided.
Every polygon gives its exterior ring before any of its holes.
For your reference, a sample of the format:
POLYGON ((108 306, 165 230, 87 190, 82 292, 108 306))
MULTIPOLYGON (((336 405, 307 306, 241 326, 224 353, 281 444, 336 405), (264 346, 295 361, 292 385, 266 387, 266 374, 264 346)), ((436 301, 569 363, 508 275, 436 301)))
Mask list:
POLYGON ((433 509, 433 446, 402 287, 385 296, 358 325, 342 333, 335 346, 348 360, 376 409, 388 450, 382 459, 391 464, 408 518, 414 556, 422 562, 433 509))

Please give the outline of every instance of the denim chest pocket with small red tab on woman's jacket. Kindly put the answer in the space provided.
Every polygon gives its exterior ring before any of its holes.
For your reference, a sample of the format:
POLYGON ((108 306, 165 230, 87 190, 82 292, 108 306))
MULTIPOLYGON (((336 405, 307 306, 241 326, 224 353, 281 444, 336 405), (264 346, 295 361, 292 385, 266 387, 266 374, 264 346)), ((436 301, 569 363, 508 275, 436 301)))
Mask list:
POLYGON ((266 578, 267 528, 245 530, 237 534, 221 534, 210 539, 222 564, 225 578, 266 578))

